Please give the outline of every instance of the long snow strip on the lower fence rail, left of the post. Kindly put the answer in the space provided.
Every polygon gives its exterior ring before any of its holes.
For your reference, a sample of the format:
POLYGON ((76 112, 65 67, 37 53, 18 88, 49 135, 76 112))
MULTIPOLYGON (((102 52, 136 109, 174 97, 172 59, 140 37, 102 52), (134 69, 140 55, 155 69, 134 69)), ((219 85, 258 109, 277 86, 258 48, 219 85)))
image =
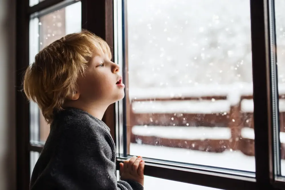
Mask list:
POLYGON ((184 140, 227 140, 231 138, 231 129, 228 127, 134 126, 132 133, 140 136, 184 140))

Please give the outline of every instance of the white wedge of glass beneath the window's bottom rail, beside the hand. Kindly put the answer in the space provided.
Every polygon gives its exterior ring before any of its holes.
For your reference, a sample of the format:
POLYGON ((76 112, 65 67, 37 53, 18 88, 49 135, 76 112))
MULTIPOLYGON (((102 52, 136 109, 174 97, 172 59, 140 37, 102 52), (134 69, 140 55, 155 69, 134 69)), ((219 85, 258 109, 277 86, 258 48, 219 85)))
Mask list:
POLYGON ((172 189, 218 190, 216 188, 193 185, 190 183, 182 183, 178 181, 160 179, 146 175, 144 176, 144 189, 156 190, 158 188, 164 190, 172 190, 172 189))

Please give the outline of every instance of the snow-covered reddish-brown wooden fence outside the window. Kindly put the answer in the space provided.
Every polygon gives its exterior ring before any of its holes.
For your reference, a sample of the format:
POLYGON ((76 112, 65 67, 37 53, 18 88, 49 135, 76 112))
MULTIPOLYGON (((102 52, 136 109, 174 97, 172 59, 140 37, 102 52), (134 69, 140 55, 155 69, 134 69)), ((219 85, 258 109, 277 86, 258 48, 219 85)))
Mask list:
MULTIPOLYGON (((279 93, 285 94, 284 89, 280 85, 279 93)), ((130 142, 211 152, 241 150, 254 155, 252 94, 252 84, 241 83, 133 89, 129 92, 130 142)), ((280 121, 285 118, 284 98, 280 95, 280 121)), ((280 124, 284 132, 285 125, 280 124)))

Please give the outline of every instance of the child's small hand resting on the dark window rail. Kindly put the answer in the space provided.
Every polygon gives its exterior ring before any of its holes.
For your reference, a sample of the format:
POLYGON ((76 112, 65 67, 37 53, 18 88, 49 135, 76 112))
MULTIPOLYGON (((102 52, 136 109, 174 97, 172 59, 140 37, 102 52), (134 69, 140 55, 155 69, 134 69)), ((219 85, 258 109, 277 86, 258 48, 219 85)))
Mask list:
POLYGON ((121 180, 134 180, 143 185, 144 183, 144 161, 141 156, 133 156, 120 163, 121 180))

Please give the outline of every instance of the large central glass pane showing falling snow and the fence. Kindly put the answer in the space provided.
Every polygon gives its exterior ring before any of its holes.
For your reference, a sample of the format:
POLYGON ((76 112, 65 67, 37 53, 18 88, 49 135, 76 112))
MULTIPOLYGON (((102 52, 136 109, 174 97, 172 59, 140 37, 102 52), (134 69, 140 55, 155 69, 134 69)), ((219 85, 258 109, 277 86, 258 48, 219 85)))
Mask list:
POLYGON ((129 0, 126 21, 127 154, 254 172, 250 1, 129 0))

